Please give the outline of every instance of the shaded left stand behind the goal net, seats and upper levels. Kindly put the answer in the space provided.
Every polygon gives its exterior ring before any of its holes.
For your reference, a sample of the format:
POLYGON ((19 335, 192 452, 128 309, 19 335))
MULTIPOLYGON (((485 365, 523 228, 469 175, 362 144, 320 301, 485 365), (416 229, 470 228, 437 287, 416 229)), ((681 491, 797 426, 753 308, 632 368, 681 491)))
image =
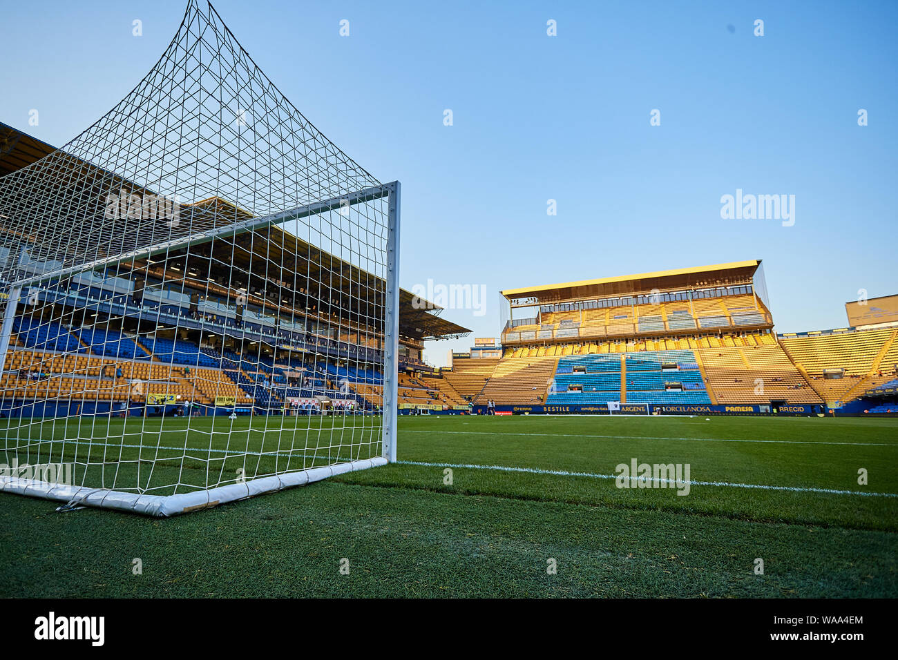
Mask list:
MULTIPOLYGON (((3 128, 13 145, 32 140, 3 128)), ((17 172, 53 153, 50 145, 43 146, 47 151, 17 151, 14 159, 0 150, 0 172, 17 172)), ((91 163, 80 166, 96 173, 91 163)), ((187 201, 179 215, 203 217, 208 226, 251 217, 217 197, 187 201)), ((31 273, 52 268, 53 263, 35 257, 43 251, 32 248, 40 246, 22 248, 13 255, 20 268, 31 273)), ((9 254, 0 260, 11 263, 9 254)), ((140 253, 43 282, 16 304, 0 375, 5 392, 0 409, 9 415, 35 410, 54 414, 53 406, 33 404, 67 401, 67 407, 115 400, 128 401, 134 414, 140 414, 149 400, 167 401, 168 395, 203 404, 201 414, 230 414, 235 405, 244 404, 257 413, 285 412, 287 400, 312 398, 321 409, 328 401, 380 407, 383 377, 374 365, 383 361, 383 328, 370 322, 369 301, 326 296, 322 288, 327 283, 330 293, 345 294, 368 277, 374 276, 271 226, 239 233, 230 242, 210 242, 201 251, 170 247, 152 258, 140 253), (295 272, 295 264, 273 258, 274 246, 305 255, 300 263, 308 268, 308 277, 295 272), (262 276, 255 274, 260 263, 269 264, 262 276), (281 283, 282 295, 266 291, 265 283, 271 281, 281 283), (284 282, 304 286, 294 291, 284 282), (315 290, 309 290, 310 283, 315 290), (366 399, 353 388, 370 396, 366 399)), ((425 341, 462 337, 470 330, 442 317, 438 305, 419 304, 409 291, 401 289, 399 298, 401 405, 461 406, 462 395, 447 381, 421 377, 427 368, 422 352, 425 341), (409 367, 412 371, 406 373, 409 367)), ((86 408, 90 414, 122 410, 86 408)), ((70 409, 62 412, 68 415, 70 409)))

